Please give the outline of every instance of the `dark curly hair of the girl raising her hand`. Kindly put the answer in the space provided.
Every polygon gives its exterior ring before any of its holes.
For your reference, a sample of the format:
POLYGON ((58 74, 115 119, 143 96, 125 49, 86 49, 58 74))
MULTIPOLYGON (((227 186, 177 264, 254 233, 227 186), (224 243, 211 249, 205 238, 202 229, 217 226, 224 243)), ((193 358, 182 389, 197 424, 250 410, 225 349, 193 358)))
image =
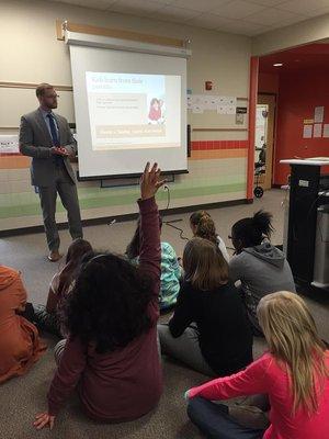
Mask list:
POLYGON ((113 254, 88 254, 68 300, 66 327, 99 353, 124 348, 151 327, 151 280, 113 254))

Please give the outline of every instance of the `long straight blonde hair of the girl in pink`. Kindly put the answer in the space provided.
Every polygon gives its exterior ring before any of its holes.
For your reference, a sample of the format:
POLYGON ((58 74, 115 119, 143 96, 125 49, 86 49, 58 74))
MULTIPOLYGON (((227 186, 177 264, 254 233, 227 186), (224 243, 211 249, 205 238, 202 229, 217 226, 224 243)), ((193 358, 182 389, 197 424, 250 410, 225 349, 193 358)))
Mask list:
POLYGON ((258 318, 270 352, 287 367, 293 394, 293 414, 318 409, 319 389, 329 378, 326 346, 305 302, 295 293, 281 291, 260 301, 258 318))

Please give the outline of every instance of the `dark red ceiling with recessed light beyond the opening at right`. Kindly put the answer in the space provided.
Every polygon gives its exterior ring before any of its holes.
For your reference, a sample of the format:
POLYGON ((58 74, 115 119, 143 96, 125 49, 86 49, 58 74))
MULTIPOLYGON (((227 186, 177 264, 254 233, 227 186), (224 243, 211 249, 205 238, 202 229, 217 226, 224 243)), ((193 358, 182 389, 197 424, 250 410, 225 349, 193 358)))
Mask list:
POLYGON ((329 70, 329 44, 308 44, 288 50, 262 56, 259 71, 264 74, 284 74, 293 70, 329 70), (273 64, 282 63, 282 67, 273 64))

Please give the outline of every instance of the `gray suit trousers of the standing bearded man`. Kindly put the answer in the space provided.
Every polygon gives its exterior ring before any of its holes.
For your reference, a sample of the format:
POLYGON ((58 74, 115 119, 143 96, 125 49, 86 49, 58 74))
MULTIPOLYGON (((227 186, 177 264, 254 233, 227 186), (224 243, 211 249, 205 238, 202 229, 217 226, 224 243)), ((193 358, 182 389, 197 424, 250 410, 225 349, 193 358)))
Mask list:
POLYGON ((55 217, 57 193, 67 211, 69 232, 72 239, 82 238, 77 185, 69 177, 64 162, 54 166, 56 166, 54 183, 47 187, 38 187, 44 226, 50 251, 56 251, 59 248, 59 235, 55 217))

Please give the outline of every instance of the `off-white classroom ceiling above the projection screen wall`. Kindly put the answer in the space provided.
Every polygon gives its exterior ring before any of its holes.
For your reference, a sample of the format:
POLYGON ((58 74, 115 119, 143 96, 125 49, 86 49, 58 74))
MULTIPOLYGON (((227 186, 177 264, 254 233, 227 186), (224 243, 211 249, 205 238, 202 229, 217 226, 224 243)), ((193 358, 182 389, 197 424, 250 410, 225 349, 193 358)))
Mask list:
POLYGON ((259 35, 329 13, 329 0, 47 0, 184 23, 192 26, 259 35))

